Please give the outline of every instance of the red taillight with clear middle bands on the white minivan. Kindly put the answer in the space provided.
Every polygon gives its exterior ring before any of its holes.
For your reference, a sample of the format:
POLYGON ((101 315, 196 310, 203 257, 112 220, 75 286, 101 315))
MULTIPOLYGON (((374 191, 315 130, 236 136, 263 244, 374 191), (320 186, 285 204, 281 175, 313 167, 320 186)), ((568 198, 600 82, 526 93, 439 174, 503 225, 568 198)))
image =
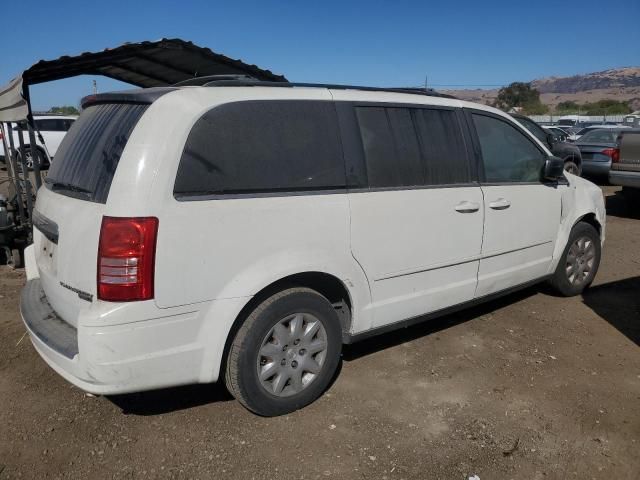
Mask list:
POLYGON ((98 298, 153 298, 158 219, 103 217, 98 246, 98 298))

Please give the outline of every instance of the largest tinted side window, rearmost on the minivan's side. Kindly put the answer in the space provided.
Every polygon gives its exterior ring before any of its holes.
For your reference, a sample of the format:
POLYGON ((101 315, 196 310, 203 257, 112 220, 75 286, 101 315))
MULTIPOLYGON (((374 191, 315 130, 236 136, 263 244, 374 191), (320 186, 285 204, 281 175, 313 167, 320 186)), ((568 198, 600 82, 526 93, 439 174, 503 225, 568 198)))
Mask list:
POLYGON ((330 102, 250 101, 205 113, 189 133, 176 195, 344 188, 330 102))

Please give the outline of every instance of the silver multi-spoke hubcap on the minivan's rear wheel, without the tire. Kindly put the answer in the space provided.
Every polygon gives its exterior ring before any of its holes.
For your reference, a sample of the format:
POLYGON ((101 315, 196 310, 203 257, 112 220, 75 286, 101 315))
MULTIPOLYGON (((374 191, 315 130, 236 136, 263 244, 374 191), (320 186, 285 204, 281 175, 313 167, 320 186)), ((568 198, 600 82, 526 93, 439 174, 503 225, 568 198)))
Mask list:
POLYGON ((327 332, 315 316, 294 313, 276 323, 262 341, 257 373, 272 395, 300 393, 317 377, 327 357, 327 332))

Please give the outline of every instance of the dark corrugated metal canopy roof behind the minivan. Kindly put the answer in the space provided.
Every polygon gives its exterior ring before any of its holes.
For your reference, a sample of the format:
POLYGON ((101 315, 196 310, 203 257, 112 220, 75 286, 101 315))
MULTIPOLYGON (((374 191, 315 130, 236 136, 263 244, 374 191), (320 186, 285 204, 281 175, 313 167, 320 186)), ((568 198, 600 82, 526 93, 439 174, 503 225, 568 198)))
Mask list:
POLYGON ((0 87, 0 121, 26 118, 29 85, 77 75, 104 75, 137 87, 167 86, 206 75, 249 75, 258 80, 287 81, 282 75, 179 38, 125 43, 100 52, 40 60, 0 87))

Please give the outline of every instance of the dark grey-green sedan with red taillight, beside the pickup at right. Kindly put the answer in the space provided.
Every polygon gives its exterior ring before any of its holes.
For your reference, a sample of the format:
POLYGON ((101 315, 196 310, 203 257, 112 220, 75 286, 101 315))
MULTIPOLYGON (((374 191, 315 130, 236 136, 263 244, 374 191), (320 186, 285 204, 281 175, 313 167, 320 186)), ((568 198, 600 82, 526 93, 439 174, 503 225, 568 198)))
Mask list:
POLYGON ((575 146, 582 155, 582 173, 607 177, 611 163, 620 160, 620 134, 624 128, 598 128, 582 135, 575 146))

